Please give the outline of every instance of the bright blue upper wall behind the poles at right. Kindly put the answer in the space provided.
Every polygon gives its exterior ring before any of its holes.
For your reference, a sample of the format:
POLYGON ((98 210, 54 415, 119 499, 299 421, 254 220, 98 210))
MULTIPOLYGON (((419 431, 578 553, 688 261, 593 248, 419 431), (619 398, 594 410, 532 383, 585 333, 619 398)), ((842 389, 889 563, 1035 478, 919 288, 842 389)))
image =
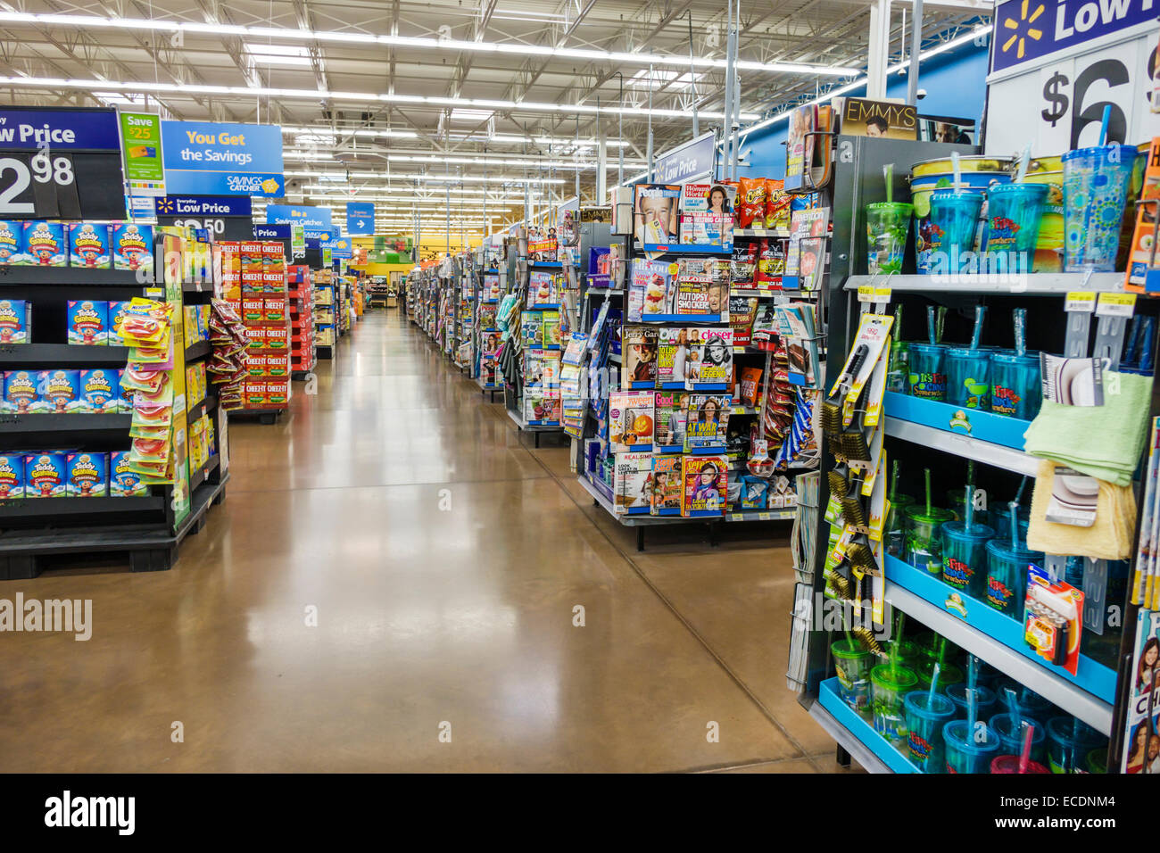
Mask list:
MULTIPOLYGON (((919 101, 923 115, 974 118, 983 121, 987 94, 988 49, 965 44, 940 53, 922 64, 919 88, 927 96, 919 101)), ((850 97, 864 97, 865 87, 849 92, 850 97)), ((906 97, 906 77, 892 74, 886 82, 889 97, 906 97)), ((782 120, 771 128, 751 133, 741 144, 741 154, 748 153, 748 166, 738 166, 738 175, 782 179, 785 176, 785 129, 782 120)))

